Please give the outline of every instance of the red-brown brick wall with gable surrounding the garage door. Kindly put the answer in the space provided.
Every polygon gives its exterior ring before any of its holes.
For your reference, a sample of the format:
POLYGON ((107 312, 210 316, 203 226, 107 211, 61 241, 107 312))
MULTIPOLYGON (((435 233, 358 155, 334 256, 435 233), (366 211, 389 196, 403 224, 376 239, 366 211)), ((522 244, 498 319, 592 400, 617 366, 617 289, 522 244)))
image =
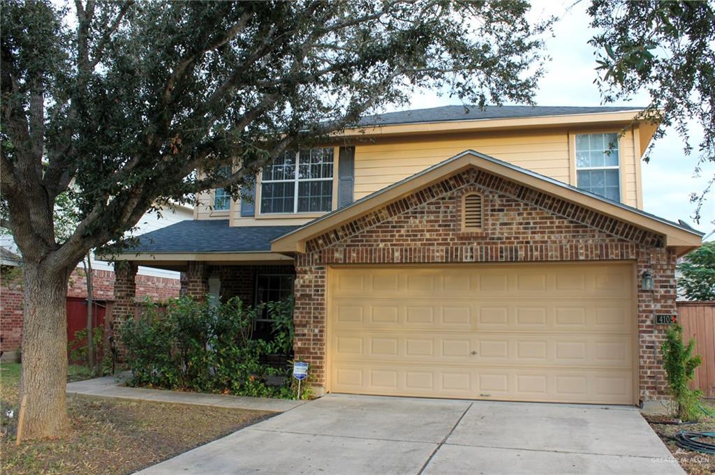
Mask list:
POLYGON ((325 289, 330 264, 528 261, 637 261, 656 289, 638 292, 641 399, 664 396, 656 311, 675 311, 675 255, 661 236, 470 170, 406 196, 312 239, 296 259, 295 351, 325 384, 325 289), (458 207, 468 191, 484 195, 484 226, 463 233, 458 207))

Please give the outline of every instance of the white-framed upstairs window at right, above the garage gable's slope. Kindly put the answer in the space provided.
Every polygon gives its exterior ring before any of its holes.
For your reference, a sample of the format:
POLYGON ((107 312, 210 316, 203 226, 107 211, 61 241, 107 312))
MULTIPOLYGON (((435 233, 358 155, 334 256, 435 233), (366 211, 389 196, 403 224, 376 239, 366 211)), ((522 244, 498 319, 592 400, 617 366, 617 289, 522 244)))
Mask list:
POLYGON ((576 186, 621 201, 618 134, 576 135, 576 186))

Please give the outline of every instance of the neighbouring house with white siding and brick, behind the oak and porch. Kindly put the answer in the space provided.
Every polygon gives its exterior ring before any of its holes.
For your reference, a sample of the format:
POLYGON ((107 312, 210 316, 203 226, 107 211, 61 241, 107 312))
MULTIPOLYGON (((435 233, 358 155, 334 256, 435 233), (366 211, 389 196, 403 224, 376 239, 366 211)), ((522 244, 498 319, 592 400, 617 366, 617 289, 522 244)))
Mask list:
MULTIPOLYGON (((169 206, 162 212, 161 217, 154 213, 147 213, 137 224, 136 234, 145 234, 170 224, 191 220, 193 215, 194 211, 191 207, 180 205, 169 206)), ((11 236, 0 236, 0 244, 3 266, 3 274, 0 277, 0 351, 3 351, 4 357, 12 358, 22 341, 23 289, 20 269, 22 259, 11 236), (11 271, 11 269, 16 270, 11 271)), ((92 272, 94 299, 102 302, 114 301, 113 264, 92 259, 92 267, 94 268, 92 272)), ((179 296, 181 287, 179 272, 142 267, 138 274, 137 299, 164 301, 179 296)), ((69 277, 67 296, 75 301, 87 299, 87 274, 82 266, 75 269, 69 277)), ((86 309, 86 303, 84 308, 86 309)), ((82 309, 82 306, 68 306, 68 311, 69 309, 82 309)), ((79 314, 68 314, 68 321, 73 317, 86 318, 79 314)))

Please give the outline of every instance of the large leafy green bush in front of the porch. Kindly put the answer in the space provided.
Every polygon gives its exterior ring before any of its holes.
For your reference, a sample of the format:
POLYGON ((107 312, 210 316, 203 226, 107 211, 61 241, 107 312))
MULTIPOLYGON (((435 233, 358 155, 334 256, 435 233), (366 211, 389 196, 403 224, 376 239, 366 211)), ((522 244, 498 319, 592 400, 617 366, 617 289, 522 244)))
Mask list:
POLYGON ((290 357, 294 334, 292 301, 267 305, 273 339, 253 339, 261 308, 240 299, 212 306, 188 297, 172 299, 163 314, 147 304, 136 321, 122 328, 122 344, 133 386, 243 396, 290 396, 290 366, 275 368, 267 356, 290 357), (266 384, 282 376, 283 386, 266 384))

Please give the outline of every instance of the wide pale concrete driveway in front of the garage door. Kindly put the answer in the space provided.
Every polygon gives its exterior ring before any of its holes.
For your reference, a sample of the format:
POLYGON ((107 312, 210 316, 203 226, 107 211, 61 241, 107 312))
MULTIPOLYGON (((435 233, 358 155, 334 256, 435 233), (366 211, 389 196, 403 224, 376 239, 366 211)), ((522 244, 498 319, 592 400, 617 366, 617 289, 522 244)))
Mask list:
POLYGON ((684 471, 635 408, 328 395, 141 473, 684 471))

